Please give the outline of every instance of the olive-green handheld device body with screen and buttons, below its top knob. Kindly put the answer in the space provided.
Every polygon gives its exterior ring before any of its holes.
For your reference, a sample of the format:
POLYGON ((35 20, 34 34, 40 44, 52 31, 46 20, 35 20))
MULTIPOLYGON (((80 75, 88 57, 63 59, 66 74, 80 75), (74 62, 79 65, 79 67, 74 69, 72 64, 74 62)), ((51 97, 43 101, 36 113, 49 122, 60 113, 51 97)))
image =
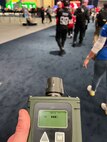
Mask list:
POLYGON ((29 97, 28 142, 82 142, 78 97, 29 97))

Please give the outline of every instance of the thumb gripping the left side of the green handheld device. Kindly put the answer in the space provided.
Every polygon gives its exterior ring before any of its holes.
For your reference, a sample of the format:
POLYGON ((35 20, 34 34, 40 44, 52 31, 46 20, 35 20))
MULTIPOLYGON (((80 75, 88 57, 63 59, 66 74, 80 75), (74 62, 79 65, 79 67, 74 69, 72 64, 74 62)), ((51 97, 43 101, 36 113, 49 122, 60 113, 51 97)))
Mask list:
POLYGON ((7 142, 27 142, 29 129, 30 116, 27 110, 20 109, 16 131, 12 136, 10 136, 7 142))

